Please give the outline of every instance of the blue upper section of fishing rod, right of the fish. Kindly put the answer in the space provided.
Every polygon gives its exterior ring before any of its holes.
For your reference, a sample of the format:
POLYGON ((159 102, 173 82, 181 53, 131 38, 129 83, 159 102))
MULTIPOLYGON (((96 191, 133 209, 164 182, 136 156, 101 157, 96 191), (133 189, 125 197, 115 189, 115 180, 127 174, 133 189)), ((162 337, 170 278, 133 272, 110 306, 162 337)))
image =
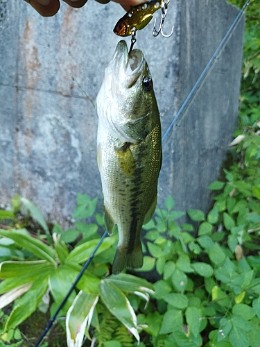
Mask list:
MULTIPOLYGON (((191 105, 191 102, 193 101, 193 98, 196 95, 194 93, 198 92, 198 87, 199 87, 200 83, 202 83, 202 81, 205 80, 205 77, 207 76, 207 74, 209 73, 211 67, 213 66, 213 63, 214 63, 214 61, 216 60, 216 58, 218 56, 218 53, 221 53, 223 51, 223 49, 225 48, 225 44, 227 44, 230 35, 232 34, 232 32, 234 31, 236 26, 239 24, 239 20, 241 19, 241 16, 243 15, 243 10, 245 9, 246 6, 249 5, 249 2, 250 2, 250 0, 245 1, 245 4, 244 4, 243 8, 241 8, 241 10, 239 11, 239 14, 236 16, 236 18, 234 19, 234 22, 229 27, 227 33, 225 34, 225 36, 223 37, 223 40, 218 45, 218 48, 214 52, 213 56, 211 56, 209 62, 207 63, 205 69, 202 71, 202 74, 200 75, 200 77, 198 78, 197 82, 193 86, 191 92, 189 92, 189 95, 185 99, 184 103, 182 103, 182 106, 181 106, 180 110, 177 112, 177 115, 173 118, 173 121, 171 122, 170 126, 166 130, 166 133, 162 137, 162 143, 165 141, 166 137, 171 132, 171 130, 172 130, 174 124, 176 123, 177 119, 179 119, 180 115, 182 115, 182 112, 187 107, 189 101, 190 101, 189 105, 191 105)), ((201 87, 201 85, 200 85, 200 87, 201 87)))

